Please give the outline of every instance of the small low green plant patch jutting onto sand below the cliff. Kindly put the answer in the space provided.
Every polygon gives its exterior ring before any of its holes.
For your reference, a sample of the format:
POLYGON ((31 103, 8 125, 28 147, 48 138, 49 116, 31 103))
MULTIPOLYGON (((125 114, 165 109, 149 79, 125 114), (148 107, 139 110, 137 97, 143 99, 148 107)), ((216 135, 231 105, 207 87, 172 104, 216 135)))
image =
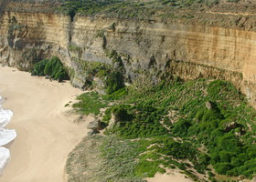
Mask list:
POLYGON ((93 114, 98 116, 101 112, 100 109, 108 106, 108 102, 101 100, 96 92, 87 92, 77 97, 78 103, 73 104, 73 108, 83 115, 93 114))

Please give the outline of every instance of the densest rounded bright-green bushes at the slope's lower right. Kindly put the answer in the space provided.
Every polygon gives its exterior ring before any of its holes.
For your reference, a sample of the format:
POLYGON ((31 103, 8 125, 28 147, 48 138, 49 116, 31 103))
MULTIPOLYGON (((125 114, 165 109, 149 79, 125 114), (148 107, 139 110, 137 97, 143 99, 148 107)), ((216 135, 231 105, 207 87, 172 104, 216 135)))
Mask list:
POLYGON ((229 119, 221 114, 218 107, 204 108, 197 111, 195 119, 190 123, 184 119, 177 122, 173 132, 176 136, 197 136, 198 141, 208 147, 210 160, 205 164, 212 164, 219 174, 252 177, 251 175, 256 172, 254 169, 251 169, 252 173, 248 175, 247 170, 240 168, 246 161, 253 159, 253 153, 250 152, 251 157, 249 157, 248 152, 252 151, 254 146, 247 146, 248 149, 244 149, 245 146, 240 138, 234 135, 237 129, 227 132, 223 129, 223 124, 229 124, 229 119))

